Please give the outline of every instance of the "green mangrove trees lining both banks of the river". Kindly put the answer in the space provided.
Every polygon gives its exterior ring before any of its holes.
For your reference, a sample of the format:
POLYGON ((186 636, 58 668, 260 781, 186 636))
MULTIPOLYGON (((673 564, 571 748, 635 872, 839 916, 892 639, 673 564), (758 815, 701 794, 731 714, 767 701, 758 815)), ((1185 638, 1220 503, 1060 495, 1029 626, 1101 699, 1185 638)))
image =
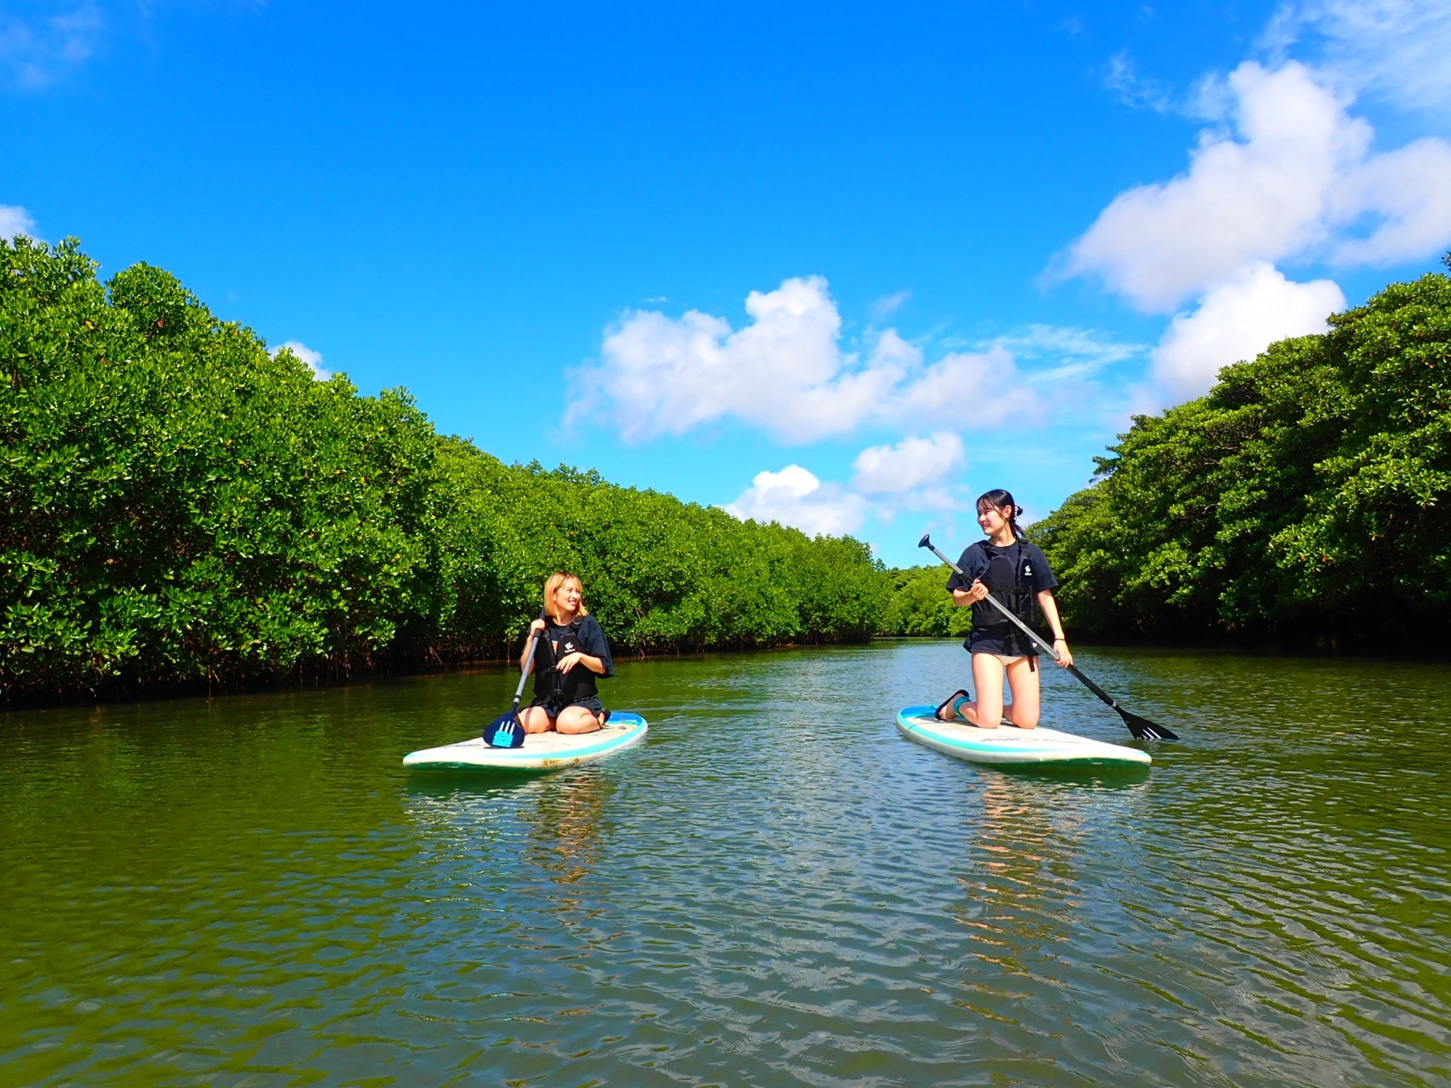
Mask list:
MULTIPOLYGON (((4 705, 496 662, 559 569, 621 654, 966 632, 945 567, 503 464, 160 268, 96 270, 74 239, 0 239, 4 705)), ((1029 529, 1071 632, 1447 643, 1447 276, 1226 367, 1109 454, 1029 529)))

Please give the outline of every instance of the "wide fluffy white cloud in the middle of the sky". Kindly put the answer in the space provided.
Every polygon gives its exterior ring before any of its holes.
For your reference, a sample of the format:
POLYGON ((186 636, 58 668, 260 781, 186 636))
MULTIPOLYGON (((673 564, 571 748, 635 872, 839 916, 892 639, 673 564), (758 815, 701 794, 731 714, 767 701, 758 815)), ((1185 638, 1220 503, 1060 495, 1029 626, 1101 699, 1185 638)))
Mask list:
POLYGON ((752 292, 746 312, 752 322, 740 329, 699 310, 625 313, 598 363, 575 371, 566 422, 609 415, 625 441, 643 441, 736 418, 779 441, 811 442, 865 422, 988 428, 1042 412, 1001 347, 929 364, 887 329, 865 357, 844 350, 842 316, 820 276, 752 292))

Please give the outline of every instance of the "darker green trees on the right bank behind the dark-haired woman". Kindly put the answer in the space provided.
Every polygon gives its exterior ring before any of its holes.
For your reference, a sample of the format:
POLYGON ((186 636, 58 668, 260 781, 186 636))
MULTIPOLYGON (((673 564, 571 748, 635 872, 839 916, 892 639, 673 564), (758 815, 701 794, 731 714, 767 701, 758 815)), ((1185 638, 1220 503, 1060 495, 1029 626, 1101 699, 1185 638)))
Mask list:
MULTIPOLYGON (((1451 277, 1136 416, 1035 538, 1068 622, 1384 641, 1451 614, 1451 277)), ((1444 637, 1442 637, 1444 638, 1444 637)))

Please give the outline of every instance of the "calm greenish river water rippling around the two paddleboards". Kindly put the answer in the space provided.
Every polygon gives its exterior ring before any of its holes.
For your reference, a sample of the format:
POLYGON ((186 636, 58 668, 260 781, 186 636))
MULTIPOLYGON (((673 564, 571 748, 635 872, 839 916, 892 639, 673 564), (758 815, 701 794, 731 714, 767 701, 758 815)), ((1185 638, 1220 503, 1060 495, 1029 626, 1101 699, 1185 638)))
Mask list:
POLYGON ((897 735, 965 660, 624 663, 649 743, 512 782, 399 766, 503 670, 10 714, 0 1084, 1451 1079, 1451 670, 1088 650, 1184 740, 1055 778, 897 735))

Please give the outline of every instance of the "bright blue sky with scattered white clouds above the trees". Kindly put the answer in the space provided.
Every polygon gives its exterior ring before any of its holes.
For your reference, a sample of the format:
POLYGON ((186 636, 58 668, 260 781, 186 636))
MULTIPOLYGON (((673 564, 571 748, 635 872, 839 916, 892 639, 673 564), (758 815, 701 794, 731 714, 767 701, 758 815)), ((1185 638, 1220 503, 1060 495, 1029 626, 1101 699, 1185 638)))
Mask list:
POLYGON ((535 9, 0 0, 0 229, 892 564, 1451 248, 1444 3, 535 9))

